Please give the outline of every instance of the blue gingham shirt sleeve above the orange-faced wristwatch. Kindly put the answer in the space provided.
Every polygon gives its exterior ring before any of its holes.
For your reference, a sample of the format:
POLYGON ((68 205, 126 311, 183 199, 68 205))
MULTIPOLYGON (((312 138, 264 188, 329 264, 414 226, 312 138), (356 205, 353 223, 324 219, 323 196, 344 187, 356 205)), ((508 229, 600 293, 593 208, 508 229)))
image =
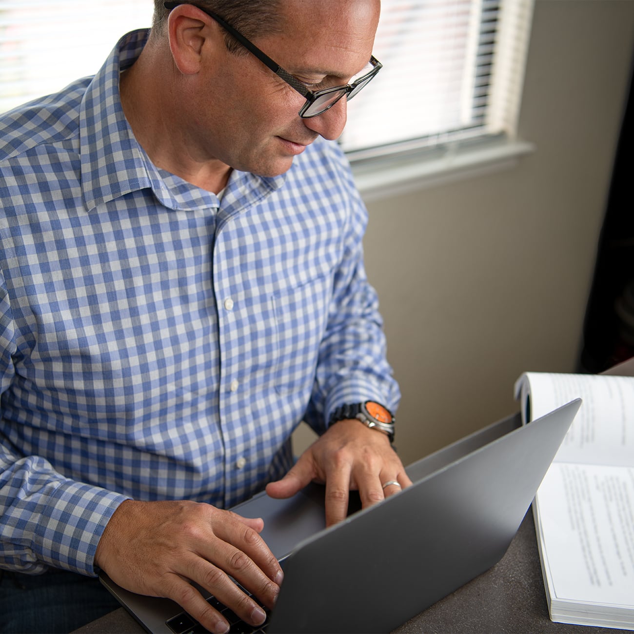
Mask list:
POLYGON ((348 209, 342 256, 333 276, 328 323, 305 417, 318 433, 327 428, 330 414, 342 404, 372 400, 394 412, 401 396, 387 361, 377 292, 368 282, 363 263, 368 214, 346 158, 336 146, 334 151, 348 209))

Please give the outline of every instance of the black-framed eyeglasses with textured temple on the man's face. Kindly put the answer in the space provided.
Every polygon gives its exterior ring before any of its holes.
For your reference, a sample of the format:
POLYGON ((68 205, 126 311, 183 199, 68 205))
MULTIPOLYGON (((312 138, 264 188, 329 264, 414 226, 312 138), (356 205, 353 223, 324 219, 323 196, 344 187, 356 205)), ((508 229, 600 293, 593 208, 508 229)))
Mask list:
MULTIPOLYGON (((163 3, 165 8, 169 11, 177 7, 179 4, 188 4, 182 2, 165 2, 163 3)), ((197 6, 197 5, 195 5, 197 6)), ((294 88, 299 94, 302 95, 306 99, 306 103, 300 108, 299 116, 302 119, 310 119, 311 117, 316 117, 323 112, 326 112, 328 108, 332 108, 337 101, 339 101, 344 95, 347 100, 351 100, 356 94, 361 91, 365 86, 370 83, 370 80, 378 73, 378 71, 382 68, 382 63, 375 58, 375 56, 370 56, 370 61, 366 64, 365 68, 361 70, 357 75, 351 79, 349 84, 345 86, 333 86, 330 88, 325 88, 323 90, 312 91, 309 90, 304 82, 299 81, 297 77, 291 75, 289 72, 284 70, 278 63, 271 60, 271 58, 266 55, 263 51, 261 51, 255 44, 250 42, 246 37, 244 37, 240 32, 236 31, 230 24, 225 22, 223 18, 216 13, 212 13, 212 11, 208 11, 207 9, 202 8, 202 6, 197 6, 198 9, 207 13, 210 18, 216 20, 221 27, 223 27, 226 32, 228 32, 231 36, 235 37, 242 46, 244 46, 250 53, 253 53, 262 63, 266 64, 278 77, 283 79, 289 86, 294 88)))

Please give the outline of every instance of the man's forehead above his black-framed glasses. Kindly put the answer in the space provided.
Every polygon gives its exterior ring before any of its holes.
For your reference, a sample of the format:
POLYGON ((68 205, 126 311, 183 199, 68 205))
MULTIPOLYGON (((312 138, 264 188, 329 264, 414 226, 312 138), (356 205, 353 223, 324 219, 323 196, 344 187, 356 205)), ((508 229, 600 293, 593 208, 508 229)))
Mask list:
POLYGON ((280 32, 270 46, 288 60, 287 70, 349 77, 370 59, 378 0, 282 0, 280 6, 280 32))

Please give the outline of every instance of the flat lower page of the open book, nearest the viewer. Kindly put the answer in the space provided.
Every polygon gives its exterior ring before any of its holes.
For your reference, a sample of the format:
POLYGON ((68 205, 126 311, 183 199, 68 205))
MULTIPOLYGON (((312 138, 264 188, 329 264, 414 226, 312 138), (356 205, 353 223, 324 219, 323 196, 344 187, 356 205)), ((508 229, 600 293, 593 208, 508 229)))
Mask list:
POLYGON ((553 463, 536 503, 552 597, 631 605, 634 469, 553 463))

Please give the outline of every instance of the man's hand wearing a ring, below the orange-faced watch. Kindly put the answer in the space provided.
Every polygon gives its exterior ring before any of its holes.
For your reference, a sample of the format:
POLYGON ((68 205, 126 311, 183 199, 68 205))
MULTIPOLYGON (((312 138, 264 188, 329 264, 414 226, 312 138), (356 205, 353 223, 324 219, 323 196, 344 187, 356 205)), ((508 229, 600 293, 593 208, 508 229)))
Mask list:
POLYGON ((304 451, 281 480, 269 482, 266 493, 288 498, 311 481, 325 483, 326 526, 331 526, 346 518, 349 491, 358 489, 366 508, 401 490, 394 484, 384 489, 391 480, 403 488, 411 484, 388 437, 358 420, 341 420, 304 451))

